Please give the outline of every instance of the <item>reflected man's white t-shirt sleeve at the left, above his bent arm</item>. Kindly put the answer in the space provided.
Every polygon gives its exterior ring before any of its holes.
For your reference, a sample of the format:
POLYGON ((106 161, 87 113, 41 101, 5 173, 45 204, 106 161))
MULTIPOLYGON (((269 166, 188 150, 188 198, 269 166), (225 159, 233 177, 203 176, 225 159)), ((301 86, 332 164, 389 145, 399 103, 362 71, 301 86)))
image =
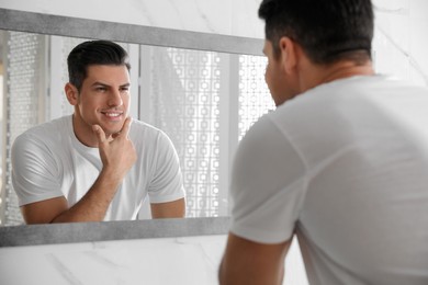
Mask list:
POLYGON ((59 197, 64 194, 58 167, 49 148, 31 135, 16 137, 12 146, 12 185, 19 205, 59 197))

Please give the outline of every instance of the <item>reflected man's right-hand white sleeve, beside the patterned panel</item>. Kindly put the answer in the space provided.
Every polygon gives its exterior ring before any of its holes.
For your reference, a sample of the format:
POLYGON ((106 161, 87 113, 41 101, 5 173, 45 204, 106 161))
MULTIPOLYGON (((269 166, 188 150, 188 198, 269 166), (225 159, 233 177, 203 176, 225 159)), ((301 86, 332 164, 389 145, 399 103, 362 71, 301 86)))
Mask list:
POLYGON ((183 198, 184 186, 177 151, 169 137, 160 132, 153 179, 148 189, 150 203, 183 198))

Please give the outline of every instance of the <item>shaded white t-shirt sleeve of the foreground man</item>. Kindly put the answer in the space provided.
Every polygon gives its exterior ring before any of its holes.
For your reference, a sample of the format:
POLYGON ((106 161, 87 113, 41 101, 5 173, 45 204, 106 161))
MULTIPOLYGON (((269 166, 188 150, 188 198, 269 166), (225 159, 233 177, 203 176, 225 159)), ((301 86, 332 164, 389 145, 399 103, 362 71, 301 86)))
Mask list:
POLYGON ((262 117, 235 156, 230 231, 261 243, 289 240, 304 200, 304 163, 285 134, 262 117))

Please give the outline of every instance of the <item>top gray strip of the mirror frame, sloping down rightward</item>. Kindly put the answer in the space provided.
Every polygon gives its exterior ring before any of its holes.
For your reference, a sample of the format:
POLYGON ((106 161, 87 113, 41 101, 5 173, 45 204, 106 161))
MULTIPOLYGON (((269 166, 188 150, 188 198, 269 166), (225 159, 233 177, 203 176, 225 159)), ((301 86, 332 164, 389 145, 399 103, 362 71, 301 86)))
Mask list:
POLYGON ((262 56, 263 39, 0 9, 0 29, 46 35, 262 56))

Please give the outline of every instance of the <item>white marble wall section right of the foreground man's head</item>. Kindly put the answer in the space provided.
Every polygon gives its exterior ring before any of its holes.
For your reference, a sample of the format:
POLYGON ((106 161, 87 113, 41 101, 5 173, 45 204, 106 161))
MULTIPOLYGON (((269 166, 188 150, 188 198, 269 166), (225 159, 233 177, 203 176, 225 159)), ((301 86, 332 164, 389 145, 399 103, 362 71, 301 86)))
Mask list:
POLYGON ((374 0, 378 72, 428 86, 428 1, 374 0))

